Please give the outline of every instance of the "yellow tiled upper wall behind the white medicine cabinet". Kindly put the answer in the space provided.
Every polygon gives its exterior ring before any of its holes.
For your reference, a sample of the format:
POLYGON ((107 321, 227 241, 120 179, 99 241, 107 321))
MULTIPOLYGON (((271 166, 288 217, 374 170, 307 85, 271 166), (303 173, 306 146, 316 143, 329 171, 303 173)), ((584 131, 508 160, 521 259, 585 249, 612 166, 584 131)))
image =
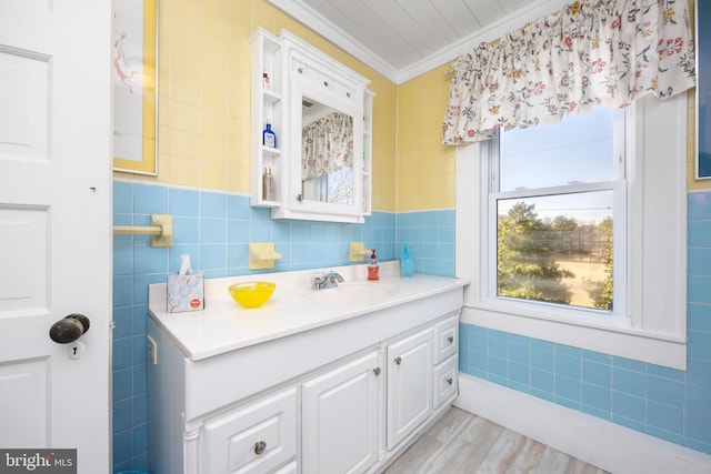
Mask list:
POLYGON ((395 210, 395 84, 266 0, 161 0, 158 177, 121 178, 250 191, 249 37, 282 28, 371 80, 373 209, 395 210))

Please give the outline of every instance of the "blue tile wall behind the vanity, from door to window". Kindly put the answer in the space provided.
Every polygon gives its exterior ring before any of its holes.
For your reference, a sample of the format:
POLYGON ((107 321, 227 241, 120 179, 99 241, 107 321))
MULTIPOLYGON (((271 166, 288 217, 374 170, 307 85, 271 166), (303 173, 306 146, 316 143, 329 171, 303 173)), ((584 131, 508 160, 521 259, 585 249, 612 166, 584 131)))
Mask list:
MULTIPOLYGON (((153 249, 149 236, 113 242, 113 460, 114 470, 148 470, 146 314, 148 285, 178 271, 178 256, 208 278, 243 275, 250 242, 274 242, 282 259, 273 271, 348 265, 349 243, 364 242, 381 261, 398 259, 401 233, 417 271, 454 274, 454 211, 373 212, 364 224, 272 221, 249 198, 166 185, 116 181, 113 223, 149 225, 150 214, 173 215, 173 246, 153 249)), ((272 270, 270 270, 272 271, 272 270)), ((260 271, 263 273, 263 271, 260 271)))

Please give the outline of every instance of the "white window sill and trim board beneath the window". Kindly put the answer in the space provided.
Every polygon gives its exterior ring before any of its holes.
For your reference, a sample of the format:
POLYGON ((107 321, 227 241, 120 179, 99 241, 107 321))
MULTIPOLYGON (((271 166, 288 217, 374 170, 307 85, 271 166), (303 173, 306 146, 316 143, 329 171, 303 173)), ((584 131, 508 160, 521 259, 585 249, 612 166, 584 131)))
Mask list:
MULTIPOLYGON (((590 317, 588 319, 590 320, 590 317)), ((672 334, 635 330, 619 321, 609 325, 592 324, 540 314, 522 314, 501 305, 464 303, 461 320, 491 330, 539 339, 557 344, 627 357, 670 369, 687 370, 687 341, 672 334)))

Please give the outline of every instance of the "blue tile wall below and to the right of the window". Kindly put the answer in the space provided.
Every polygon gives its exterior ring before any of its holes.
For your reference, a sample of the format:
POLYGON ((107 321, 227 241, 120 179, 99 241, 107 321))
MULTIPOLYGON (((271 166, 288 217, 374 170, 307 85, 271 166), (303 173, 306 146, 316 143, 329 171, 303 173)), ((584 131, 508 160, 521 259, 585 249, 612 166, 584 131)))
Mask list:
POLYGON ((711 454, 711 192, 688 231, 685 372, 468 324, 461 372, 711 454))

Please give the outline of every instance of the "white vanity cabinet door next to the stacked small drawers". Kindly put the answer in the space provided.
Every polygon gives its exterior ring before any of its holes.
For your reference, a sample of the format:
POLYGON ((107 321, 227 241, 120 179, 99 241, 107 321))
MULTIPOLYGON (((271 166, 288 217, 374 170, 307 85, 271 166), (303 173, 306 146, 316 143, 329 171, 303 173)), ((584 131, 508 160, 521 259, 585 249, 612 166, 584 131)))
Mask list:
POLYGON ((388 450, 432 413, 432 327, 388 346, 388 450))

